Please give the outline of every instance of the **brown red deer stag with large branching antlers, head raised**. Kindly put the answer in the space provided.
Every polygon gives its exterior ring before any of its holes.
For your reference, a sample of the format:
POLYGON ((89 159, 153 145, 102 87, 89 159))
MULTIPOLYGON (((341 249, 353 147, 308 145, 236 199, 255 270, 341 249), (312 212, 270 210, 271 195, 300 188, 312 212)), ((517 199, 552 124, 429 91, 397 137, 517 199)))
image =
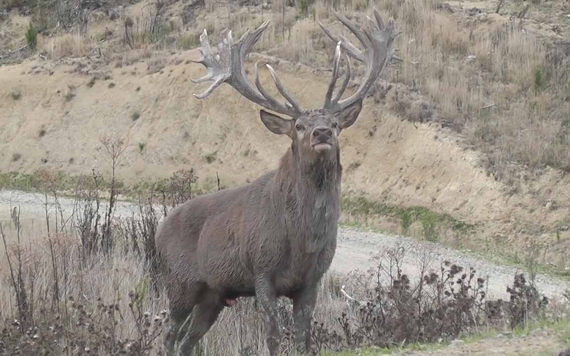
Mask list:
POLYGON ((374 10, 376 21, 369 19, 370 28, 363 30, 334 10, 333 14, 365 51, 319 23, 337 46, 324 104, 313 110, 299 106, 269 65, 275 85, 288 104, 280 103, 262 87, 257 64, 255 87, 247 79, 245 57, 268 22, 253 33, 246 32, 237 43, 229 31, 218 44, 217 55, 210 49, 206 30, 200 36, 202 56, 193 62, 203 64, 207 75, 192 81, 214 83, 194 96, 203 99, 227 83, 261 107, 290 117, 260 111, 263 124, 272 133, 289 136, 292 144, 278 169, 247 185, 188 200, 162 222, 156 245, 170 302, 170 325, 165 335, 168 355, 174 354, 176 343, 180 343, 181 354, 191 354, 221 310, 246 296, 257 297, 271 356, 279 350, 276 302, 280 296, 291 298, 293 303, 296 349, 310 350, 317 286, 336 249, 341 198, 338 136, 356 121, 364 97, 386 63, 399 60, 390 49, 399 34, 392 18, 384 24, 374 10), (347 74, 333 96, 341 48, 347 54, 347 74), (351 79, 349 56, 363 62, 366 70, 357 92, 341 100, 351 79))

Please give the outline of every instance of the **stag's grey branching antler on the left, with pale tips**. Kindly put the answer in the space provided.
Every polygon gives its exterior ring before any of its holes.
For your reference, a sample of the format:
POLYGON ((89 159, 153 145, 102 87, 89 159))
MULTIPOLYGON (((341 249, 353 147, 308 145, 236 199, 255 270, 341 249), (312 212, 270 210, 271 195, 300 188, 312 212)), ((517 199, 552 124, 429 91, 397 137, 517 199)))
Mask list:
POLYGON ((245 96, 248 100, 253 101, 262 107, 275 111, 278 113, 285 114, 292 118, 298 118, 303 114, 303 110, 299 107, 299 103, 294 97, 287 91, 283 86, 275 70, 266 64, 269 69, 275 85, 279 90, 279 93, 287 99, 290 104, 279 103, 274 97, 272 97, 261 85, 259 80, 259 72, 257 69, 257 63, 255 63, 255 86, 251 84, 249 79, 245 74, 245 56, 251 51, 254 44, 257 43, 263 31, 267 28, 269 21, 264 22, 259 28, 250 34, 249 30, 243 34, 242 38, 239 39, 237 43, 234 44, 234 39, 231 36, 231 31, 227 33, 226 38, 218 43, 217 55, 213 55, 211 52, 210 44, 208 41, 208 35, 206 30, 200 35, 200 43, 202 47, 200 52, 202 57, 200 59, 193 59, 194 63, 201 63, 207 68, 208 73, 199 79, 190 79, 193 83, 203 83, 204 81, 213 80, 214 83, 206 89, 205 92, 194 97, 198 99, 204 99, 209 96, 215 88, 219 87, 222 83, 230 84, 237 92, 245 96))

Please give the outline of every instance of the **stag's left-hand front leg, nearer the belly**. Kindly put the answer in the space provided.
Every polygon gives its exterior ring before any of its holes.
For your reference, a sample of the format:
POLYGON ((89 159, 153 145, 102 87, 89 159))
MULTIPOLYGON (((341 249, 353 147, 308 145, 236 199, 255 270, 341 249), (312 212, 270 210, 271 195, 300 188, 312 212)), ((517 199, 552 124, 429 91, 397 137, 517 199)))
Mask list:
POLYGON ((255 284, 255 296, 259 301, 267 327, 267 347, 270 356, 277 356, 281 335, 277 319, 277 297, 275 288, 269 279, 258 280, 255 284))

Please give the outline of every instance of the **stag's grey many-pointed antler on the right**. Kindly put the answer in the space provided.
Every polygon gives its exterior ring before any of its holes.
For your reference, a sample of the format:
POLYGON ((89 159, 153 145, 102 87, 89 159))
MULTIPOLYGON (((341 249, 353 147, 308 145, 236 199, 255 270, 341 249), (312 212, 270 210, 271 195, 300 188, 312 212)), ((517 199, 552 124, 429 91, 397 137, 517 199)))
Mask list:
POLYGON ((339 112, 356 103, 356 101, 364 99, 374 82, 380 76, 380 73, 382 73, 386 67, 386 64, 388 64, 391 59, 402 60, 398 56, 394 55, 394 51, 390 48, 390 46, 392 46, 392 41, 400 34, 400 31, 396 30, 394 19, 392 18, 388 20, 388 24, 384 24, 384 21, 382 21, 382 18, 376 9, 374 9, 374 18, 376 18, 376 23, 367 17, 370 23, 370 29, 364 30, 357 28, 354 23, 349 21, 349 19, 343 15, 337 13, 335 10, 331 9, 331 11, 335 14, 336 18, 344 24, 344 26, 347 26, 348 29, 351 30, 365 48, 363 54, 363 52, 356 48, 347 38, 342 35, 333 35, 331 31, 319 22, 319 26, 323 29, 325 34, 327 34, 327 36, 329 36, 333 41, 337 42, 332 78, 329 83, 327 95, 325 95, 323 109, 328 109, 331 112, 339 112), (345 76, 339 92, 335 97, 332 97, 332 92, 335 89, 336 81, 339 77, 341 48, 347 53, 347 75, 345 76), (366 66, 366 73, 356 93, 347 99, 340 100, 344 91, 347 89, 352 73, 352 67, 348 56, 363 62, 366 66))

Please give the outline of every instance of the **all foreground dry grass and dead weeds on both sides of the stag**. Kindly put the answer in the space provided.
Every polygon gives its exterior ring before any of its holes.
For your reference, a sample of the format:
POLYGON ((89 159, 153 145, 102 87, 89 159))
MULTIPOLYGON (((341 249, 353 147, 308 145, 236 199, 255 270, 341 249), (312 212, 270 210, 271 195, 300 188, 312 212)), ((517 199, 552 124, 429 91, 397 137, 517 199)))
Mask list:
MULTIPOLYGON (((109 165, 121 154, 108 149, 109 165)), ((83 177, 72 200, 59 196, 56 171, 43 170, 41 179, 44 212, 23 217, 26 211, 15 208, 0 219, 0 353, 160 354, 168 301, 156 274, 154 232, 162 214, 196 194, 193 172, 140 189, 146 194, 130 213, 116 204, 113 177, 83 177), (102 199, 104 181, 114 192, 109 200, 102 199)), ((368 271, 326 276, 312 328, 315 351, 451 340, 563 315, 547 309, 548 300, 522 275, 510 302, 487 301, 477 271, 431 265, 433 252, 421 251, 418 277, 401 274, 401 247, 374 257, 368 271)), ((294 345, 291 308, 279 301, 284 354, 294 345)), ((200 354, 265 353, 260 320, 253 298, 226 308, 197 346, 200 354)))

